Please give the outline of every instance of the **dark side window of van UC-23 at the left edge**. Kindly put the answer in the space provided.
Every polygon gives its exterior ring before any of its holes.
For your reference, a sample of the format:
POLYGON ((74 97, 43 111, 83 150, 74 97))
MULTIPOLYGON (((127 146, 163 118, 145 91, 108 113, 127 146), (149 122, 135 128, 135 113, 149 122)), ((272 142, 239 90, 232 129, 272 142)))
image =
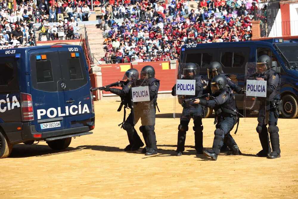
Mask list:
POLYGON ((0 91, 18 90, 18 64, 15 58, 0 58, 0 91))

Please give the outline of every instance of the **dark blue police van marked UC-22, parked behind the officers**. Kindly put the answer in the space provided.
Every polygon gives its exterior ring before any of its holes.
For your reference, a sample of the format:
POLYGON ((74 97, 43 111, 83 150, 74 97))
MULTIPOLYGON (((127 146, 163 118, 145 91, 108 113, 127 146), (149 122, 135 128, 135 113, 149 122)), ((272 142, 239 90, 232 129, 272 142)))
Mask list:
MULTIPOLYGON (((298 116, 298 42, 284 41, 282 38, 263 41, 222 42, 207 44, 187 44, 181 47, 180 62, 198 64, 201 74, 207 74, 207 67, 212 61, 223 65, 224 73, 229 74, 232 81, 244 87, 245 65, 257 62, 260 55, 271 57, 274 68, 282 76, 280 94, 283 104, 283 118, 298 116)), ((244 109, 243 95, 235 95, 238 109, 244 109)), ((207 109, 205 117, 212 110, 207 109)))

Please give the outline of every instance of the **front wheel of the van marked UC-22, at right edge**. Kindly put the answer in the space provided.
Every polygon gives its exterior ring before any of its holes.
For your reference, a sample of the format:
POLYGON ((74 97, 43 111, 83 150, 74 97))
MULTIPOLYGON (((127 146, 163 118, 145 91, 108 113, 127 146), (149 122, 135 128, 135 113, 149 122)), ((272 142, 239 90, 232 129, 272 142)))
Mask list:
POLYGON ((282 97, 283 107, 281 114, 283 118, 296 118, 298 115, 297 100, 293 95, 285 95, 282 97))

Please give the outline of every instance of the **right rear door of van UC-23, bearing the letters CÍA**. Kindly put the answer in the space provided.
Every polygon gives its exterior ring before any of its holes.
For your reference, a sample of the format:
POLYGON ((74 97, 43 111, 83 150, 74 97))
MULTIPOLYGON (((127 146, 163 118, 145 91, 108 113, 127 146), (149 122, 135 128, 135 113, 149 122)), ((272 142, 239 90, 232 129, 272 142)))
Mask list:
POLYGON ((66 128, 86 126, 92 117, 90 81, 88 67, 80 47, 59 48, 59 60, 63 82, 65 106, 69 115, 65 117, 66 128))

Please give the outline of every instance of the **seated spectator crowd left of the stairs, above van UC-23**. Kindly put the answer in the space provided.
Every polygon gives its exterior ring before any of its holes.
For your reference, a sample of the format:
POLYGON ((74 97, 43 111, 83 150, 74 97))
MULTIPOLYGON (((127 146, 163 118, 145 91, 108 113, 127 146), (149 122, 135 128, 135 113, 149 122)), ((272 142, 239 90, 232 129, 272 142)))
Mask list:
POLYGON ((1 0, 0 49, 34 46, 38 40, 74 39, 77 22, 87 21, 90 2, 81 0, 1 0), (16 9, 15 9, 16 7, 16 9), (49 22, 55 22, 50 25, 49 22), (41 23, 35 27, 36 23, 41 23))

